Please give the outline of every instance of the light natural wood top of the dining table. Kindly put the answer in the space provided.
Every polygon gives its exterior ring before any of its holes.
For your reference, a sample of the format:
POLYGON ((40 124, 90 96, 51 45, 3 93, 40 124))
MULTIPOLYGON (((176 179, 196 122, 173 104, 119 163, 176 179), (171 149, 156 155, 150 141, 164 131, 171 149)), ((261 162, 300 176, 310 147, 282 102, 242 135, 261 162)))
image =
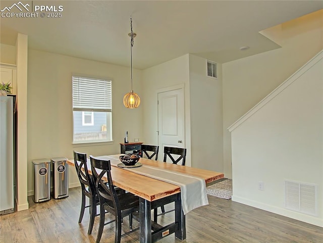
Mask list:
MULTIPOLYGON (((120 155, 121 154, 109 155, 109 156, 119 159, 120 155)), ((204 170, 204 169, 198 169, 198 168, 182 166, 177 164, 165 163, 165 162, 150 160, 146 158, 140 158, 139 161, 142 164, 155 166, 155 167, 163 168, 167 170, 177 171, 184 174, 189 174, 189 175, 203 178, 205 179, 206 185, 212 183, 212 181, 215 181, 217 179, 221 179, 224 177, 223 173, 215 172, 211 170, 204 170)), ((69 165, 75 166, 73 159, 68 160, 67 163, 69 165)), ((120 187, 150 202, 160 198, 165 198, 173 194, 177 194, 181 191, 179 186, 166 183, 165 181, 136 174, 134 172, 125 170, 123 168, 119 168, 115 166, 111 166, 111 167, 112 167, 111 174, 112 174, 112 178, 115 186, 120 187)), ((91 168, 89 162, 88 162, 88 168, 89 170, 91 168)))

